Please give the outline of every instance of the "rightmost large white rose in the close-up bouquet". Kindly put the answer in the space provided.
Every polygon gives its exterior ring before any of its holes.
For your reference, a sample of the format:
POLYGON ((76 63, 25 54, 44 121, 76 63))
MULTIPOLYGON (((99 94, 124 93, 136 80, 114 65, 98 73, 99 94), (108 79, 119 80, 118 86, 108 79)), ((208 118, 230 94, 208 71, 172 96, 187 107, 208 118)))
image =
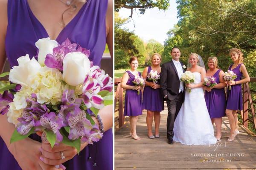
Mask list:
POLYGON ((63 80, 70 86, 84 81, 90 71, 90 60, 81 52, 70 52, 63 60, 63 80))

